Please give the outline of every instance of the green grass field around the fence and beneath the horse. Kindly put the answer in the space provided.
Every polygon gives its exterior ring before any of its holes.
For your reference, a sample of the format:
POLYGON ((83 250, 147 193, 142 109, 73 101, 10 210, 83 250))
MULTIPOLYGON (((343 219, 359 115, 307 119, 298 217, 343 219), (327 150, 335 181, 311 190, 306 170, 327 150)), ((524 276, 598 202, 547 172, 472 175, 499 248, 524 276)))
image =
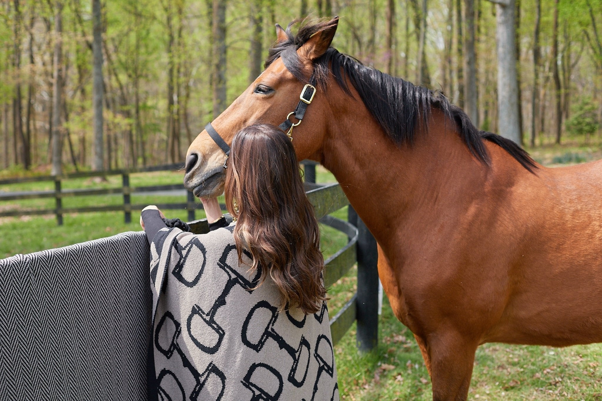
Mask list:
MULTIPOLYGON (((546 145, 531 152, 545 165, 560 166, 602 158, 597 146, 546 145)), ((2 174, 0 174, 2 176, 2 174)), ((147 173, 132 176, 132 186, 181 182, 181 173, 147 173)), ((318 168, 318 182, 331 182, 332 176, 318 168)), ((119 186, 116 176, 104 186, 119 186)), ((51 183, 48 183, 52 189, 51 183)), ((64 188, 98 187, 89 179, 64 183, 64 188)), ((36 184, 4 186, 0 191, 43 189, 36 184)), ((119 204, 120 196, 81 197, 69 200, 69 206, 84 204, 119 204)), ((184 197, 137 197, 132 203, 182 202, 184 197)), ((52 207, 52 200, 28 203, 0 203, 0 209, 13 207, 52 207)), ((185 210, 169 210, 168 217, 186 218, 185 210)), ((336 215, 344 218, 346 209, 336 215)), ((203 216, 202 210, 197 218, 203 216)), ((123 223, 123 213, 86 213, 64 216, 57 227, 54 216, 23 216, 0 219, 0 257, 29 253, 110 236, 122 231, 139 230, 137 214, 132 224, 123 223)), ((321 227, 325 256, 346 243, 346 237, 330 227, 321 227)), ((356 289, 356 271, 352 269, 329 290, 330 316, 334 316, 356 289)), ((335 347, 339 387, 344 400, 430 400, 429 375, 411 332, 394 316, 388 302, 383 302, 379 319, 379 345, 369 354, 358 354, 355 325, 335 347)), ((600 400, 602 401, 602 344, 562 349, 541 346, 485 344, 477 350, 470 399, 478 400, 600 400)))

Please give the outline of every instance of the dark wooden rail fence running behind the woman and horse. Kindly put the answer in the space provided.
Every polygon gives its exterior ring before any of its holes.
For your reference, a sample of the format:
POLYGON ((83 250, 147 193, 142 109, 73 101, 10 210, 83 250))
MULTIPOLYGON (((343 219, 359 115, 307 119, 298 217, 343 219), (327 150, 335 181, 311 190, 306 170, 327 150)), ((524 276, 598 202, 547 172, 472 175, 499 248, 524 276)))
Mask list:
MULTIPOLYGON (((329 225, 335 230, 341 231, 349 238, 349 242, 339 249, 334 255, 324 262, 326 266, 324 274, 324 284, 326 287, 332 286, 343 275, 357 263, 358 265, 358 290, 346 302, 338 313, 330 319, 330 330, 332 340, 336 344, 347 332, 350 326, 357 320, 356 339, 358 349, 365 352, 373 349, 377 344, 378 333, 378 289, 379 278, 377 272, 377 250, 376 240, 371 235, 364 222, 358 217, 349 204, 349 200, 343 193, 338 184, 317 185, 315 183, 315 162, 303 161, 305 167, 306 192, 309 201, 314 205, 315 214, 323 224, 329 225), (330 213, 349 206, 347 221, 330 216, 330 213)), ((30 210, 8 210, 0 212, 1 216, 21 216, 21 215, 48 215, 57 216, 58 225, 63 224, 63 215, 65 213, 85 213, 102 211, 123 211, 125 222, 131 222, 132 210, 141 210, 146 205, 131 204, 130 195, 134 193, 170 191, 173 189, 184 189, 182 184, 175 185, 153 185, 132 187, 129 185, 129 175, 133 173, 142 173, 149 171, 181 170, 181 165, 164 165, 137 170, 111 170, 87 173, 65 174, 63 176, 45 176, 45 177, 26 177, 19 179, 0 180, 0 185, 24 183, 24 182, 54 182, 54 191, 31 191, 19 194, 10 192, 2 194, 0 192, 0 201, 36 199, 36 198, 55 198, 56 207, 54 209, 30 209, 30 210), (122 186, 119 188, 98 188, 98 189, 61 189, 61 181, 66 179, 82 177, 106 177, 122 176, 122 186), (123 204, 110 206, 88 206, 63 208, 62 200, 65 197, 85 196, 85 195, 107 195, 122 194, 123 204)), ((196 207, 202 207, 194 201, 194 196, 187 191, 187 201, 185 203, 157 204, 160 209, 186 209, 188 210, 188 221, 191 230, 194 233, 206 233, 209 230, 206 219, 195 220, 194 210, 196 207)))

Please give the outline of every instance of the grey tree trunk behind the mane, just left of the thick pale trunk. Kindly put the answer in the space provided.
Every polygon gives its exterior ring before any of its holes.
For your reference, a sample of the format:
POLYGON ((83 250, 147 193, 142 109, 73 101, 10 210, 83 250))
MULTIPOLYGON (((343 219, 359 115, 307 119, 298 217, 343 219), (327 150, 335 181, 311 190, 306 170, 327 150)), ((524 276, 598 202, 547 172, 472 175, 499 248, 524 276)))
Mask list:
POLYGON ((464 108, 475 126, 479 126, 477 109, 477 66, 474 51, 474 0, 465 0, 466 35, 464 37, 464 108))

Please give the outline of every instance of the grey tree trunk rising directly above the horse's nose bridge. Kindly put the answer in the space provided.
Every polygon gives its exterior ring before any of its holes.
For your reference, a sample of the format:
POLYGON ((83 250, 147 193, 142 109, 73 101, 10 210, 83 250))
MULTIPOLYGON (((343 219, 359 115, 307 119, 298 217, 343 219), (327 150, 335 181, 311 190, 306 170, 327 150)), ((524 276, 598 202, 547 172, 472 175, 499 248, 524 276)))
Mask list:
POLYGON ((213 0, 213 118, 226 109, 226 0, 213 0))

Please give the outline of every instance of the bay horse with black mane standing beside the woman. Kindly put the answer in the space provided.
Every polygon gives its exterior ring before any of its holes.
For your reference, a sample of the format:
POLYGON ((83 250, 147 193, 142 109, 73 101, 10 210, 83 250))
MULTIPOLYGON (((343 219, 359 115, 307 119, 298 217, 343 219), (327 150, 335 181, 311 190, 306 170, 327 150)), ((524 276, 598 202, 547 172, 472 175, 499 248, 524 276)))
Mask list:
MULTIPOLYGON (((480 344, 602 342, 602 161, 542 167, 441 93, 338 52, 337 25, 277 25, 264 72, 209 127, 227 145, 256 121, 279 124, 315 82, 303 120, 285 128, 302 122, 299 160, 330 170, 376 237, 380 280, 433 399, 467 399, 480 344)), ((203 130, 186 188, 222 194, 225 159, 203 130)))

